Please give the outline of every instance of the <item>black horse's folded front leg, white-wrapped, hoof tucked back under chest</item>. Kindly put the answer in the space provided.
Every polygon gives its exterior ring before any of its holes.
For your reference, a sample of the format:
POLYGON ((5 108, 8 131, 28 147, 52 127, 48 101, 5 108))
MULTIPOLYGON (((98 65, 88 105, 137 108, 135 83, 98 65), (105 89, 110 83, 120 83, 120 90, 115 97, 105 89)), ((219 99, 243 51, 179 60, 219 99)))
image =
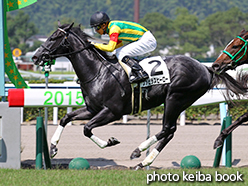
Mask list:
POLYGON ((111 137, 108 141, 104 141, 92 133, 92 129, 106 125, 112 121, 119 119, 118 116, 114 115, 109 108, 104 107, 99 113, 97 113, 85 126, 84 135, 90 138, 94 143, 96 143, 100 148, 105 148, 109 146, 116 145, 120 143, 114 137, 111 137))

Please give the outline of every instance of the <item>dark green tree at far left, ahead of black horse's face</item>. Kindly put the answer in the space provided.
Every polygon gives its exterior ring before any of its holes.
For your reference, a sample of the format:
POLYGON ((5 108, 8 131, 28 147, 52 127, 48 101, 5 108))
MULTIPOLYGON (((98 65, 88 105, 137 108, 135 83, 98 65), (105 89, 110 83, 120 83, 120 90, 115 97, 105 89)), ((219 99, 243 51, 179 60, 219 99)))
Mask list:
MULTIPOLYGON (((26 44, 27 39, 38 33, 34 23, 29 22, 29 15, 23 11, 18 11, 16 16, 7 14, 7 26, 11 48, 20 48, 23 53, 28 52, 30 49, 26 44)), ((40 43, 36 42, 36 45, 38 47, 40 43)))

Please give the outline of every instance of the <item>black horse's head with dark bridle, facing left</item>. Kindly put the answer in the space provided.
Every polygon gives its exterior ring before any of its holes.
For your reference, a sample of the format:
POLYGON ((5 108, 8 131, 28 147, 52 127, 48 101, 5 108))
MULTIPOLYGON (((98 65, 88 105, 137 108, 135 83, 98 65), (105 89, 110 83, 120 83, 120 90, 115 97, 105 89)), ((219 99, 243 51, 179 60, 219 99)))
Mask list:
POLYGON ((44 66, 46 62, 50 62, 68 52, 67 37, 72 26, 73 23, 59 27, 34 54, 32 57, 34 64, 44 66))

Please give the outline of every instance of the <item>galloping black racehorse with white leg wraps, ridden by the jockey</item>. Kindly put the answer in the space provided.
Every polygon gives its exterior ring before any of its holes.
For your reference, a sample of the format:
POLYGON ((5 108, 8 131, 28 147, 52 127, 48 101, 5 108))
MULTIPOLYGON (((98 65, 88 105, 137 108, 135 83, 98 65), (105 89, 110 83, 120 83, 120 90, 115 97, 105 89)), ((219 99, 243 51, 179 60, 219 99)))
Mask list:
MULTIPOLYGON (((60 26, 34 54, 36 65, 57 57, 67 57, 80 80, 86 107, 66 114, 60 121, 51 139, 50 155, 57 153, 57 144, 66 124, 73 120, 90 120, 84 126, 84 135, 99 147, 105 148, 119 143, 111 137, 104 141, 92 133, 92 129, 106 125, 132 112, 132 88, 128 77, 117 59, 110 59, 103 51, 97 50, 88 40, 90 36, 80 27, 60 26)), ((228 74, 214 75, 211 69, 198 61, 183 55, 168 56, 164 59, 170 83, 153 85, 142 89, 142 110, 164 104, 162 130, 141 143, 131 154, 131 159, 138 158, 141 152, 158 142, 151 153, 134 168, 150 165, 166 144, 173 138, 179 114, 193 104, 211 85, 220 79, 237 94, 245 93, 242 84, 228 74)))

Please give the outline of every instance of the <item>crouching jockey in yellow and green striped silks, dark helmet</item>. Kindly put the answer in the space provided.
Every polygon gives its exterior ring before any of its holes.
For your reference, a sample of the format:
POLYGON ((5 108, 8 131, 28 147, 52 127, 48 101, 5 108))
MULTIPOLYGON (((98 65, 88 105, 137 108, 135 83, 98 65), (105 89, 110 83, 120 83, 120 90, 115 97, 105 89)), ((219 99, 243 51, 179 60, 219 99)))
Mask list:
POLYGON ((156 49, 157 41, 150 31, 135 22, 110 21, 105 12, 93 14, 90 26, 100 35, 109 35, 108 44, 92 44, 106 52, 115 50, 116 57, 132 69, 130 83, 141 82, 149 77, 139 63, 130 57, 140 56, 156 49), (123 41, 128 44, 123 45, 123 41))

